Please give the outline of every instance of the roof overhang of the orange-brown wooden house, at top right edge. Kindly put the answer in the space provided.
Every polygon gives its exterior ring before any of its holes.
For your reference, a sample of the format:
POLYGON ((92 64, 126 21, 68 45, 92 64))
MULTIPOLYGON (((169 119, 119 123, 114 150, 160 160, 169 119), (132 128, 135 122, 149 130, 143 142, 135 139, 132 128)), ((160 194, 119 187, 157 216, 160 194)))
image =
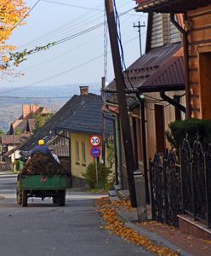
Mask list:
POLYGON ((188 10, 208 6, 211 0, 136 0, 137 12, 181 14, 188 10))

